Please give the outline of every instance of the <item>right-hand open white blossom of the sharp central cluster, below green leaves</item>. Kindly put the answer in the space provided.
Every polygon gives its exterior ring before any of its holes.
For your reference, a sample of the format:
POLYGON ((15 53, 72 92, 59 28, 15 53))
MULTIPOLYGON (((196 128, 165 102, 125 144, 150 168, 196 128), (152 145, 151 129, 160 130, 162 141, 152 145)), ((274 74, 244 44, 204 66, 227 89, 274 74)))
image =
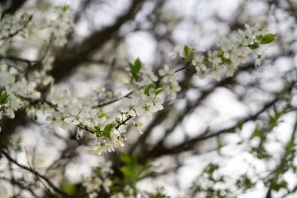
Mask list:
POLYGON ((139 105, 135 108, 138 116, 142 116, 143 114, 145 114, 148 120, 152 119, 151 112, 157 111, 152 103, 152 100, 152 96, 147 96, 145 94, 142 95, 142 98, 140 98, 138 101, 139 105))

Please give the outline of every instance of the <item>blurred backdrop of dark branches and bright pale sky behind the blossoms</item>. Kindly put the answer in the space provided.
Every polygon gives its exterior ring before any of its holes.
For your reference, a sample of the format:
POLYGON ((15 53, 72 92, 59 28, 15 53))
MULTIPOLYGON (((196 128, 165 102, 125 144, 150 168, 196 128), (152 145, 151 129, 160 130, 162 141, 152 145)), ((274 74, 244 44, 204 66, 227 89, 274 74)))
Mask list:
MULTIPOLYGON (((135 153, 140 164, 150 160, 155 166, 156 174, 137 183, 140 189, 164 187, 171 198, 190 198, 189 188, 199 179, 206 181, 201 173, 210 163, 219 165, 216 174, 226 175, 225 184, 218 188, 232 188, 243 175, 251 178, 254 187, 239 192, 238 198, 297 196, 294 170, 283 175, 289 191, 283 188, 267 193, 269 185, 259 179, 270 177, 279 167, 284 145, 297 122, 293 83, 297 80, 296 0, 15 0, 11 9, 49 18, 49 7, 65 4, 70 5, 74 27, 67 44, 54 49, 56 59, 50 74, 57 90, 71 89, 77 97, 88 96, 98 87, 128 93, 125 68, 137 57, 153 71, 165 63, 179 69, 184 62, 168 56, 175 46, 197 45, 205 53, 217 48, 218 38, 245 29, 245 23, 254 26, 259 22, 263 29, 277 34, 275 42, 257 49, 259 53, 267 49, 268 54, 257 68, 256 55, 251 54, 233 77, 226 78, 224 70, 221 81, 192 78, 195 68, 179 72, 182 90, 177 99, 161 95, 164 110, 154 113, 151 121, 145 120, 143 135, 126 127, 128 140, 121 151, 135 153), (284 91, 290 100, 278 98, 284 91), (291 110, 265 138, 263 148, 270 157, 259 157, 250 148, 260 147, 262 139, 250 137, 257 124, 265 126, 274 106, 284 105, 291 110)), ((38 43, 39 38, 35 39, 38 43)), ((32 43, 18 45, 23 58, 36 58, 38 47, 32 43)), ((104 112, 110 112, 110 118, 116 116, 119 104, 104 106, 104 112)), ((106 159, 112 161, 112 168, 121 164, 119 149, 102 156, 89 155, 85 147, 96 143, 92 134, 77 140, 74 129, 49 131, 42 112, 37 115, 39 119, 34 121, 19 110, 15 119, 1 123, 0 134, 9 133, 14 142, 21 140, 21 151, 12 156, 21 164, 31 161, 55 184, 80 184, 82 177, 91 175, 92 167, 106 159)), ((292 161, 296 164, 295 158, 292 161)), ((0 175, 7 174, 8 169, 9 163, 2 158, 0 175)), ((12 169, 20 171, 14 166, 12 169)), ((14 188, 1 180, 0 197, 10 197, 14 188)), ((31 195, 24 191, 22 196, 31 195)))

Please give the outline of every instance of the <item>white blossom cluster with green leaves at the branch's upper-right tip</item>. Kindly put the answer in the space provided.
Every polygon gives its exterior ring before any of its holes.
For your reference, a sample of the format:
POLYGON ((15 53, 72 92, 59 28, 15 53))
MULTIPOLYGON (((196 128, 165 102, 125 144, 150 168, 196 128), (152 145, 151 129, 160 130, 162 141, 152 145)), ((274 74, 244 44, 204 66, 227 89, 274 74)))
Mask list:
MULTIPOLYGON (((229 38, 223 37, 219 39, 216 45, 218 50, 208 50, 207 56, 200 54, 196 47, 185 46, 174 48, 169 52, 172 58, 180 57, 183 61, 188 61, 196 67, 197 75, 200 79, 204 79, 210 75, 217 80, 220 80, 219 72, 224 69, 224 65, 228 67, 227 77, 234 75, 238 66, 246 63, 247 55, 258 49, 260 45, 271 43, 276 35, 266 34, 260 24, 257 23, 254 27, 245 25, 246 30, 238 30, 238 33, 231 35, 229 38)), ((261 54, 256 54, 255 66, 261 64, 265 59, 266 53, 263 50, 261 54)), ((164 72, 162 72, 164 73, 164 72)))

